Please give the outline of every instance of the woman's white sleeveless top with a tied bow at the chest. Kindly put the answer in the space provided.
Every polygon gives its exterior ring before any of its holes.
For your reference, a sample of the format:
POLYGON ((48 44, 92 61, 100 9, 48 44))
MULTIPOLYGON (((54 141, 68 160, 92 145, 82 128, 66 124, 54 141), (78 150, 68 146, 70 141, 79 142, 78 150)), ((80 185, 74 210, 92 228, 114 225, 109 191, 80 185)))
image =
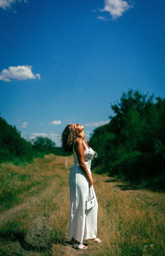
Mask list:
MULTIPOLYGON (((83 142, 83 140, 82 139, 76 139, 76 140, 81 140, 82 142, 83 142)), ((75 140, 75 142, 76 142, 76 140, 75 140)), ((74 142, 74 144, 75 144, 75 142, 74 142)), ((88 168, 91 168, 91 160, 93 159, 93 156, 95 156, 95 157, 97 157, 97 153, 95 152, 95 151, 93 151, 91 148, 88 148, 86 145, 85 145, 85 143, 83 142, 83 144, 84 144, 84 146, 85 146, 85 150, 84 150, 84 162, 85 162, 85 164, 86 164, 86 166, 88 167, 88 168)), ((75 153, 75 151, 74 151, 74 145, 73 145, 73 152, 74 152, 74 163, 75 164, 78 164, 79 162, 78 162, 78 159, 77 159, 77 155, 76 155, 76 153, 75 153)))

